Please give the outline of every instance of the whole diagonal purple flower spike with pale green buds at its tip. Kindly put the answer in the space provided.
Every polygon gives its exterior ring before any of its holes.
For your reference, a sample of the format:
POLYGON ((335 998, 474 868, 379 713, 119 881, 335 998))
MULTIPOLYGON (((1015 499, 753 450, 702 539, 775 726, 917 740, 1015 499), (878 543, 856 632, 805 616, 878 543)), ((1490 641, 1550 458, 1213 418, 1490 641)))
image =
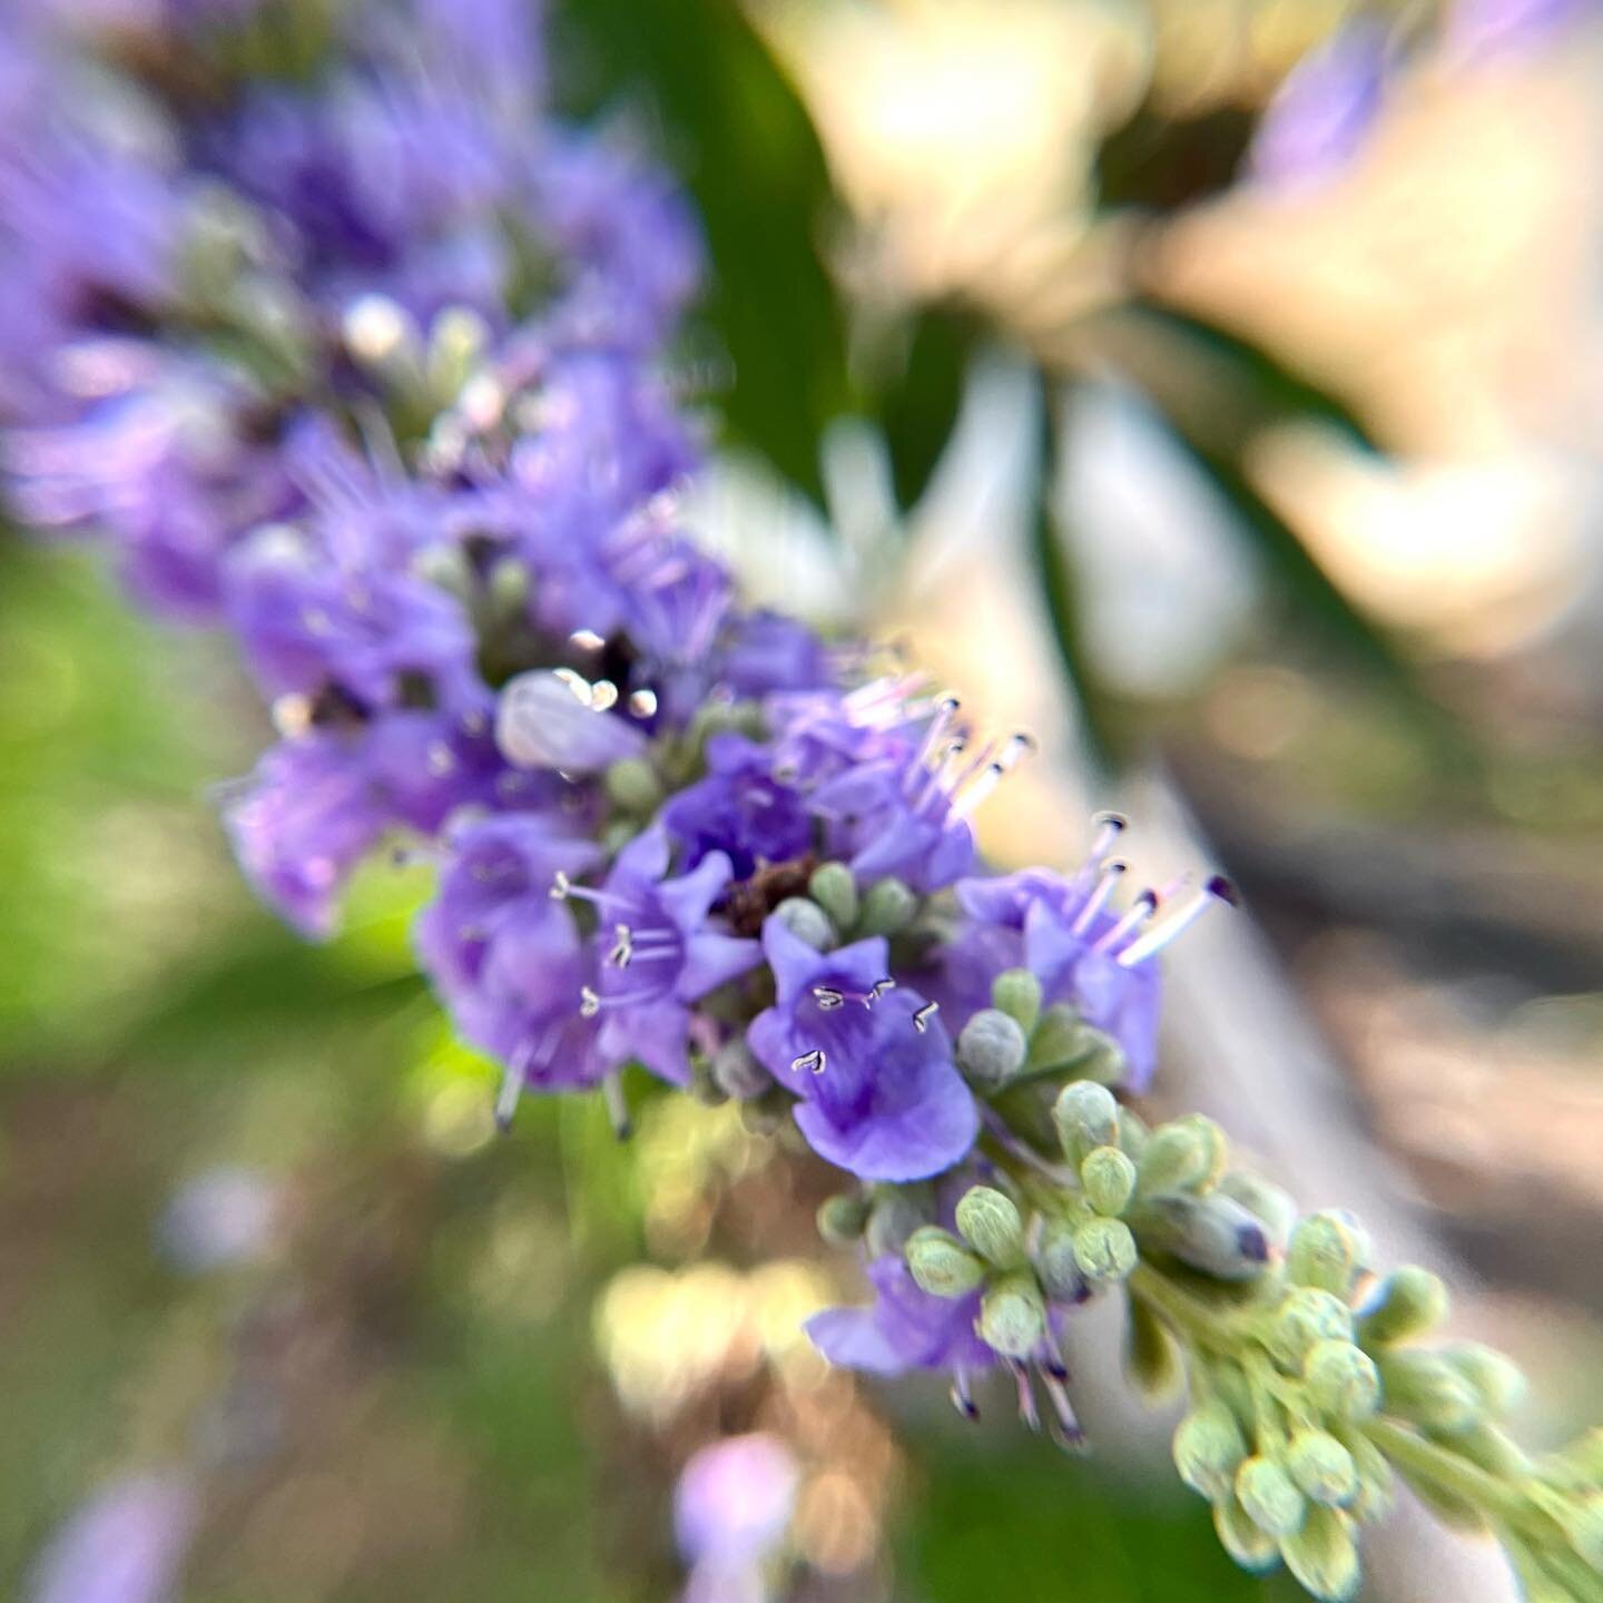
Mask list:
POLYGON ((503 1124, 600 1088, 622 1127, 635 1066, 793 1120, 875 1290, 814 1321, 835 1363, 946 1371, 967 1412, 1005 1371, 1072 1446, 1058 1337, 1119 1292, 1138 1375, 1189 1359, 1177 1460, 1242 1563, 1350 1597, 1395 1462, 1593 1595, 1590 1460, 1513 1456, 1484 1355, 1395 1345, 1417 1278, 1371 1290, 1347 1221, 1287 1241, 1212 1124, 1119 1101, 1228 886, 1122 894, 1117 818, 1069 872, 987 872, 1029 741, 744 609, 681 527, 694 228, 547 114, 527 8, 155 6, 98 64, 61 18, 0 69, 5 487, 237 638, 279 731, 228 803, 263 894, 322 935, 380 842, 428 856, 417 951, 503 1124), (115 95, 64 91, 107 61, 115 95))

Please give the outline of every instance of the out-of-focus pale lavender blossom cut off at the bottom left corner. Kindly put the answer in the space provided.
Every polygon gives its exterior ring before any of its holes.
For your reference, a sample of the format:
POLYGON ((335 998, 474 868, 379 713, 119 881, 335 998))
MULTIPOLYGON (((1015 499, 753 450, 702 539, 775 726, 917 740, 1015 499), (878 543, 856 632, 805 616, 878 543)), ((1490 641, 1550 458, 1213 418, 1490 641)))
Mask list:
POLYGON ((112 1481, 51 1539, 29 1603, 167 1603, 196 1524, 191 1486, 170 1475, 112 1481))

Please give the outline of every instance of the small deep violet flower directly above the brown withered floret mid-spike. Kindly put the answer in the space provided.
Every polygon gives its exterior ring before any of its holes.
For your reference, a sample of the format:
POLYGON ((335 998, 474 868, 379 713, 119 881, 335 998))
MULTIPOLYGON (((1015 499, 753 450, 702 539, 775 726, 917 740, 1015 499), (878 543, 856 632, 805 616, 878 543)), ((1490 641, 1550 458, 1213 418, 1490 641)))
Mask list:
POLYGON ((773 749, 742 734, 707 742, 707 776, 672 797, 660 818, 689 867, 718 851, 742 880, 761 862, 800 858, 813 845, 802 793, 774 777, 773 749))

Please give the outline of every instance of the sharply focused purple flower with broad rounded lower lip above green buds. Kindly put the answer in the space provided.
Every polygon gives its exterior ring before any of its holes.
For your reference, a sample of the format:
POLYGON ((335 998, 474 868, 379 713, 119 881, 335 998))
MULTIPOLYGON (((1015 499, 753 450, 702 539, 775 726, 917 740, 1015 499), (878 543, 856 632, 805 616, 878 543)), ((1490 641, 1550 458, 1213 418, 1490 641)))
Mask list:
POLYGON ((979 1114, 935 1010, 888 984, 883 939, 816 952, 777 917, 763 925, 774 1005, 747 1040, 802 1098, 813 1149, 862 1180, 923 1180, 963 1157, 979 1114))

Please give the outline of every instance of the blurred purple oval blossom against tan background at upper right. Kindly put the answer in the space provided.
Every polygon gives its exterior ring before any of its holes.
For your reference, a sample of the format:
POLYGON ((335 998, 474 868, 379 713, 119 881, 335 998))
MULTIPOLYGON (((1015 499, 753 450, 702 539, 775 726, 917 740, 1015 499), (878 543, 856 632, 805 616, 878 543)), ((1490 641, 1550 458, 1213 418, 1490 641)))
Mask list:
POLYGON ((1258 122, 1254 175, 1289 188, 1340 172, 1385 103, 1388 55, 1385 27, 1359 18, 1298 61, 1258 122))

